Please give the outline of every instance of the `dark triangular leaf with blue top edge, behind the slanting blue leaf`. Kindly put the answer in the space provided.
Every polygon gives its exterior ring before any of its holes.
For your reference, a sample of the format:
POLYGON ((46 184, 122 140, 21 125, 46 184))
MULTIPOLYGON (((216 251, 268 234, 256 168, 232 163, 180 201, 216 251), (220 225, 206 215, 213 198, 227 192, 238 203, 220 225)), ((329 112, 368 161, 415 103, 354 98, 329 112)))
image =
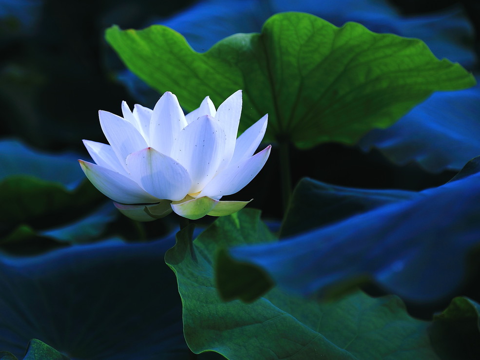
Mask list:
POLYGON ((417 195, 404 190, 352 189, 313 179, 300 180, 293 190, 280 237, 322 227, 382 205, 417 195))

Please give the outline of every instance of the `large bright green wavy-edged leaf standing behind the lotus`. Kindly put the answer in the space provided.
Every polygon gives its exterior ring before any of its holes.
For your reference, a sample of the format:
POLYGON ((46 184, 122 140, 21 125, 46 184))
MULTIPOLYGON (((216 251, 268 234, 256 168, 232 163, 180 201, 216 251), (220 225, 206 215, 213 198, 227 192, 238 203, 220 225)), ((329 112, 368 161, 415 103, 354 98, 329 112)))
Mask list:
POLYGON ((268 113, 267 138, 300 147, 354 143, 436 90, 475 84, 421 40, 375 34, 353 22, 338 28, 304 13, 274 15, 261 34, 233 35, 202 54, 161 25, 140 31, 114 26, 106 38, 136 75, 175 93, 187 110, 206 95, 218 106, 243 89, 240 130, 268 113))

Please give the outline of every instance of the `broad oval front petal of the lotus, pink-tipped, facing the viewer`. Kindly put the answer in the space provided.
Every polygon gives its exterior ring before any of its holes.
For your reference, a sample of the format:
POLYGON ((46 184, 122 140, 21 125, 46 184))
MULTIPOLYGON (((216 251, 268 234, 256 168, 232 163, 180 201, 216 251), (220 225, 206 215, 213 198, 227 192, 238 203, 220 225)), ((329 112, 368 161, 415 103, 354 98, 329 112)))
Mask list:
POLYGON ((159 199, 181 200, 192 185, 189 173, 170 156, 146 148, 127 157, 132 178, 159 199))

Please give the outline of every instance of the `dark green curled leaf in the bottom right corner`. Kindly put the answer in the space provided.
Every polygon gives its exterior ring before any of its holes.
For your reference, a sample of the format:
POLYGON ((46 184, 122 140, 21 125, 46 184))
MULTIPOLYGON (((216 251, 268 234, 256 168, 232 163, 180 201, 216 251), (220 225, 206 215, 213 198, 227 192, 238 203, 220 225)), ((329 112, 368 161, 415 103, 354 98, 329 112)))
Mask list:
POLYGON ((442 359, 476 359, 480 354, 480 305, 458 297, 433 319, 429 332, 442 359))

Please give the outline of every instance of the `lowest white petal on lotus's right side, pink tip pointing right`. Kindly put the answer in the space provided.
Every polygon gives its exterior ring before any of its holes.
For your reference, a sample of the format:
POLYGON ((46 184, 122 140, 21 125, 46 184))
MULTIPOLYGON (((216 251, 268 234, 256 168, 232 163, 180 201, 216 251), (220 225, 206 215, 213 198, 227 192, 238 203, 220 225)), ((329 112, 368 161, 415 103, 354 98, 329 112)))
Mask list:
POLYGON ((267 148, 243 160, 232 164, 208 183, 198 196, 224 196, 234 194, 243 189, 262 170, 270 154, 269 145, 267 148))

